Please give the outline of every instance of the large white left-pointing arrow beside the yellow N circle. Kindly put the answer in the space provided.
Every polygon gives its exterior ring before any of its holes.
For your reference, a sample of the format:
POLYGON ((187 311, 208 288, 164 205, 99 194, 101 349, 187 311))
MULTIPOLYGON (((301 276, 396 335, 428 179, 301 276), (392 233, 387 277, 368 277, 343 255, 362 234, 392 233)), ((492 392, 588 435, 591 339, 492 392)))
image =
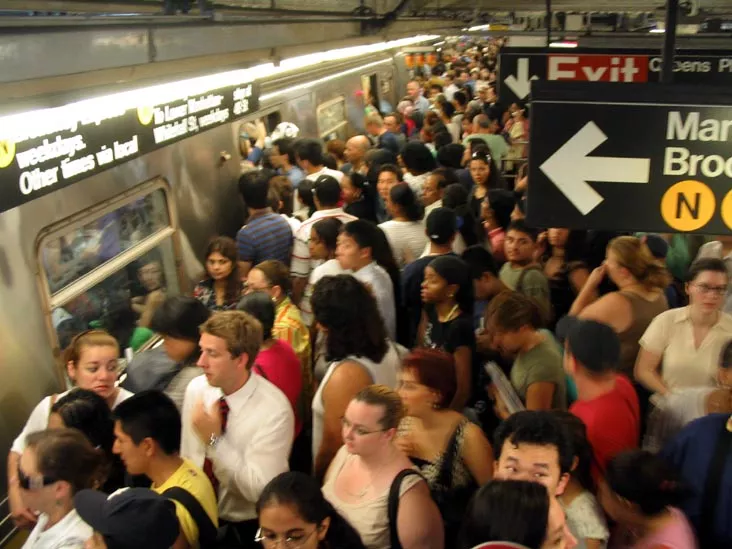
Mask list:
POLYGON ((583 215, 604 200, 588 181, 648 183, 651 178, 649 158, 587 156, 605 141, 607 135, 588 122, 539 167, 583 215))

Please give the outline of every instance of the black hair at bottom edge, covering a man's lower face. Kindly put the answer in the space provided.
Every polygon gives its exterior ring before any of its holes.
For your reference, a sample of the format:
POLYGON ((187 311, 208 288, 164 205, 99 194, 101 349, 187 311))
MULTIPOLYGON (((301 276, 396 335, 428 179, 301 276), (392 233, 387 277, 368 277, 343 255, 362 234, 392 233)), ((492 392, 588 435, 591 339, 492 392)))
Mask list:
POLYGON ((549 522, 549 492, 536 482, 492 480, 470 500, 460 532, 460 549, 489 541, 539 549, 549 522))

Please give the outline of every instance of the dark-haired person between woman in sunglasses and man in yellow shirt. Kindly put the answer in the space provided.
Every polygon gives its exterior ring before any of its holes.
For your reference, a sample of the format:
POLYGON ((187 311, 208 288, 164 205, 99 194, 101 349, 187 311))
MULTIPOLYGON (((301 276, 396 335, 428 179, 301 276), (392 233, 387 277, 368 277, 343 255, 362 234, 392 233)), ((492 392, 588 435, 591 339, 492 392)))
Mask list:
POLYGON ((107 479, 100 487, 111 494, 125 485, 125 467, 112 452, 114 445, 114 420, 105 400, 94 391, 74 389, 58 399, 48 418, 49 429, 76 429, 89 440, 94 448, 104 452, 107 479))

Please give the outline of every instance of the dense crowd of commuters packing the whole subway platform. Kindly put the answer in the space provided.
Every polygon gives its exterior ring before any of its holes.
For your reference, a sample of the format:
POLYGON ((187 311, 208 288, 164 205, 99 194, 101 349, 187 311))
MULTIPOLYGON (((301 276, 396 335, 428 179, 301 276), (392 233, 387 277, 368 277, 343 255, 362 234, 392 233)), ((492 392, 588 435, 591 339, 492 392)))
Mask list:
POLYGON ((8 459, 27 549, 732 546, 732 238, 530 226, 499 45, 274 140, 121 386, 71 340, 8 459))

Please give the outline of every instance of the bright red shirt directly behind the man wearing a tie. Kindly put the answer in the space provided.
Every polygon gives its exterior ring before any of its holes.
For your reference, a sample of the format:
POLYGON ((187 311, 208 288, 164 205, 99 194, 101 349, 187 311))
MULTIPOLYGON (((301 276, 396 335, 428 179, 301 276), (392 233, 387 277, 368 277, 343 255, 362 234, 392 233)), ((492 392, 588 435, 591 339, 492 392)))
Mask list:
POLYGON ((292 412, 295 414, 295 437, 297 437, 302 430, 302 417, 297 411, 297 401, 302 391, 302 370, 295 351, 286 341, 274 339, 269 349, 259 351, 253 369, 282 391, 290 401, 292 412))

